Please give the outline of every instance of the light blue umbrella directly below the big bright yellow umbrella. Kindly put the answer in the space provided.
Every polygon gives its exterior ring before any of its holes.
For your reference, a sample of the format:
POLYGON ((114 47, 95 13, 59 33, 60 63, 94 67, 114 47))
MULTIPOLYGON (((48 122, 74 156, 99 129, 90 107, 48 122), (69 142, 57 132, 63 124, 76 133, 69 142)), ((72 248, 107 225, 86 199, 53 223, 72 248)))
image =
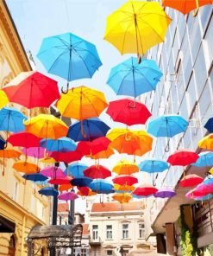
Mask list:
POLYGON ((142 93, 155 90, 162 72, 152 60, 142 60, 131 57, 127 61, 113 67, 107 84, 117 95, 137 97, 142 93))

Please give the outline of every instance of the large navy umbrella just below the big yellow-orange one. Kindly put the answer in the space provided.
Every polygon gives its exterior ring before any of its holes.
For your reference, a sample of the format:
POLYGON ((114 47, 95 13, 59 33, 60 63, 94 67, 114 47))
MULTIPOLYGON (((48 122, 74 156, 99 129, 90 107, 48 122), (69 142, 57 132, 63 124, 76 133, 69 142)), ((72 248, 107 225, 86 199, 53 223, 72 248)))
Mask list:
POLYGON ((67 136, 74 141, 91 141, 95 138, 104 137, 110 127, 99 118, 85 119, 69 127, 67 136), (82 131, 83 135, 82 135, 82 131))

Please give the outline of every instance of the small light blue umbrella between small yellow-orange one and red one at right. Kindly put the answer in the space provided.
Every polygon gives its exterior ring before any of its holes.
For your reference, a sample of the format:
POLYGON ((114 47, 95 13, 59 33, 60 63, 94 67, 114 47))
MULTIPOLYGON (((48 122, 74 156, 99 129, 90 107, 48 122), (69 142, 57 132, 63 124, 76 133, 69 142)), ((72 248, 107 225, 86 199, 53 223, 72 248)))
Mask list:
POLYGON ((154 173, 154 172, 162 172, 164 170, 167 170, 169 168, 168 163, 162 160, 157 159, 147 159, 142 161, 139 164, 139 168, 141 171, 145 171, 148 173, 154 173))

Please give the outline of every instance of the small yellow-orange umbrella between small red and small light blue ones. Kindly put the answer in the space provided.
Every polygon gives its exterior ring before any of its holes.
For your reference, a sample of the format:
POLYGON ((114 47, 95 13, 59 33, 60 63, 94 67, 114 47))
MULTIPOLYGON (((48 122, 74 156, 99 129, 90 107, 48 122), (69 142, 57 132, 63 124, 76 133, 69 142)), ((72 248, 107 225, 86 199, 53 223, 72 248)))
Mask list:
POLYGON ((131 175, 138 172, 139 168, 135 162, 121 160, 120 162, 116 163, 112 171, 116 172, 118 175, 131 175))

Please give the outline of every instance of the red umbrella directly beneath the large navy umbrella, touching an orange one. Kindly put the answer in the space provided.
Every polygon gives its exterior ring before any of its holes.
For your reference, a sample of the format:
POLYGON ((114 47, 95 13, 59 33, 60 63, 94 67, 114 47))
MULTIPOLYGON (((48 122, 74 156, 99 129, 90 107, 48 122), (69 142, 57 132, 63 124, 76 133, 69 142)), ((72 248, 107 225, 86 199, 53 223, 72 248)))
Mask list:
POLYGON ((95 155, 100 151, 106 150, 110 144, 110 139, 105 137, 96 138, 93 141, 80 141, 76 151, 81 156, 95 155))

